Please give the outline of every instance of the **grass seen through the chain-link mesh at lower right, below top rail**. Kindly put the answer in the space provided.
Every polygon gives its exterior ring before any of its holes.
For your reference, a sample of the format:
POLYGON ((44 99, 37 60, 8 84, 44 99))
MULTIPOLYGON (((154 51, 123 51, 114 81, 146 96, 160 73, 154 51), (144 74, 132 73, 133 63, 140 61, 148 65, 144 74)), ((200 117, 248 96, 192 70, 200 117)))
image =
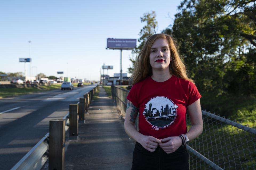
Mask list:
MULTIPOLYGON (((203 118, 203 133, 189 143, 190 147, 222 168, 225 167, 224 169, 247 169, 247 166, 252 166, 253 162, 255 164, 255 135, 209 117, 203 116, 203 118)), ((187 125, 191 127, 190 121, 187 125)), ((208 165, 199 159, 194 159, 195 156, 192 154, 190 156, 190 165, 207 169, 208 165)))

